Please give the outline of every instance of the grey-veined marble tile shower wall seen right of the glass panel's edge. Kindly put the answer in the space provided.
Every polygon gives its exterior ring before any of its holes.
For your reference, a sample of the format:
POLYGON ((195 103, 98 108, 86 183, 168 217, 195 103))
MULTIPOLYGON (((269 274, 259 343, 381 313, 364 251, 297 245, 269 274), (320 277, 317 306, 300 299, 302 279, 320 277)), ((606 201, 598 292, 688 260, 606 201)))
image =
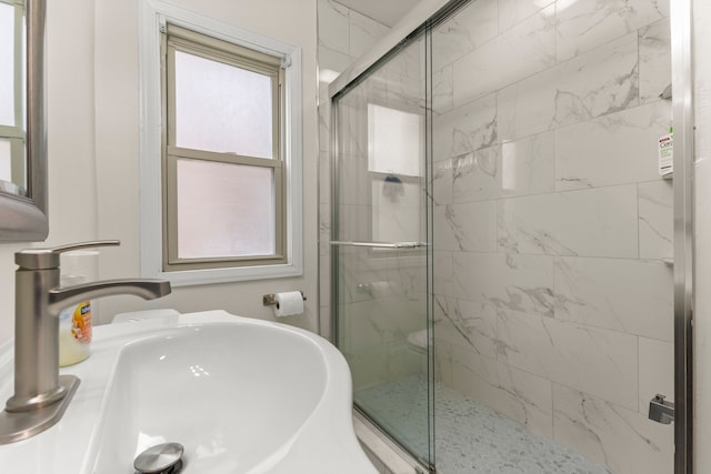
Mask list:
POLYGON ((673 460, 662 3, 479 0, 432 39, 440 379, 615 474, 673 460))

